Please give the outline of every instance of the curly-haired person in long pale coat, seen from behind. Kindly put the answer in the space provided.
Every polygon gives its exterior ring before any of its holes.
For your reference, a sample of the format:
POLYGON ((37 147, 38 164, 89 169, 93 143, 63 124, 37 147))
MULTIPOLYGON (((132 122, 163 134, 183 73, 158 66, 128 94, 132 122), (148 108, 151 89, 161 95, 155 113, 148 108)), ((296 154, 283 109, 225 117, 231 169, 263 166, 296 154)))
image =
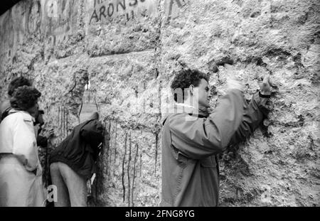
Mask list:
POLYGON ((45 203, 36 131, 38 97, 34 87, 18 87, 12 109, 0 124, 0 206, 42 206, 45 203))

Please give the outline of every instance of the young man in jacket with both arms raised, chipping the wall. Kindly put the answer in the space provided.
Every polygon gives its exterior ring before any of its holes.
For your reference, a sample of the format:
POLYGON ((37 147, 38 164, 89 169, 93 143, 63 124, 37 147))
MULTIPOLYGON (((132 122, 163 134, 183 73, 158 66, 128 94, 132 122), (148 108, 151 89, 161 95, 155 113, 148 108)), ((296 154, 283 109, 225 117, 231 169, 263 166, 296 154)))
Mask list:
POLYGON ((163 121, 162 206, 218 205, 217 154, 250 136, 269 111, 269 77, 249 105, 243 88, 230 80, 227 94, 208 114, 207 75, 198 70, 178 72, 171 84, 176 103, 163 121))

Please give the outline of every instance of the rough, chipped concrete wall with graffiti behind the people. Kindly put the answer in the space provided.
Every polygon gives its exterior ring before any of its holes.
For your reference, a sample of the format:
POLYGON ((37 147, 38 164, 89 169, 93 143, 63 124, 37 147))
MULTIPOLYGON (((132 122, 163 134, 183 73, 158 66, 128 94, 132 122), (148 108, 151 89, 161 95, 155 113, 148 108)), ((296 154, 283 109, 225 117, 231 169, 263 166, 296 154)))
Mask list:
POLYGON ((213 107, 225 60, 247 99, 270 72, 274 109, 238 151, 220 156, 220 203, 319 206, 319 9, 316 0, 21 1, 0 17, 1 99, 14 77, 34 79, 55 129, 51 148, 80 109, 97 109, 110 136, 90 204, 155 206, 173 72, 210 72, 213 107))

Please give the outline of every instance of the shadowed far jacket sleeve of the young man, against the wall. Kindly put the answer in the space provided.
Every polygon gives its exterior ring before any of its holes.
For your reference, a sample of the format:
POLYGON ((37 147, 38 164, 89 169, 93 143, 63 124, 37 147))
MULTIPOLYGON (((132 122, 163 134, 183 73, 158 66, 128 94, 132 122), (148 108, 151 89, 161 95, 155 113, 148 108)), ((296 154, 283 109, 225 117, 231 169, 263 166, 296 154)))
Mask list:
POLYGON ((270 112, 269 98, 262 98, 259 92, 252 96, 250 104, 245 108, 243 119, 228 146, 234 146, 245 141, 261 124, 270 112))

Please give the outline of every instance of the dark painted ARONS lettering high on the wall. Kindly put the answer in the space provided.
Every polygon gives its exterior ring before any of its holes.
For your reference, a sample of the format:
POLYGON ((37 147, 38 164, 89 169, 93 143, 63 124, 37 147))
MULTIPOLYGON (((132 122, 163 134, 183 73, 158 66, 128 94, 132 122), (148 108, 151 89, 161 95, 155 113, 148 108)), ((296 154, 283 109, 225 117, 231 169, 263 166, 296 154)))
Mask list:
POLYGON ((124 18, 127 21, 137 16, 156 14, 154 0, 95 0, 90 23, 112 21, 114 18, 124 18))

